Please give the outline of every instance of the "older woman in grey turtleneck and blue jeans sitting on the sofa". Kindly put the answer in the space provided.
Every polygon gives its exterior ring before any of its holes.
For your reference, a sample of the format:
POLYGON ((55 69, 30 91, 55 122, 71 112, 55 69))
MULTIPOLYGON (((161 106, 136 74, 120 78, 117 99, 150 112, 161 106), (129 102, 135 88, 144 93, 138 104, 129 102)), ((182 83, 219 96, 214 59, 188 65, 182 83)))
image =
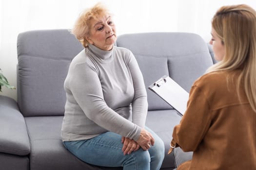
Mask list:
POLYGON ((114 46, 110 13, 95 5, 81 13, 72 33, 85 49, 72 60, 64 82, 64 146, 89 164, 159 170, 163 141, 145 127, 143 77, 132 52, 114 46))

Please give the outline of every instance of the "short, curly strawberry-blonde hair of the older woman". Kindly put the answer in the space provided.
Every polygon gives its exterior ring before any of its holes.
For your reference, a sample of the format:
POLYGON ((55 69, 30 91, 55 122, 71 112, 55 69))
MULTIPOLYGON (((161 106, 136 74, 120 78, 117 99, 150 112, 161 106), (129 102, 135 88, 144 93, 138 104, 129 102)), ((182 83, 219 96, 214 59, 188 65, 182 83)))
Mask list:
POLYGON ((101 3, 97 3, 92 8, 85 9, 80 13, 71 33, 76 36, 84 47, 87 47, 89 42, 85 37, 90 35, 91 21, 97 20, 105 15, 110 15, 110 13, 101 3))

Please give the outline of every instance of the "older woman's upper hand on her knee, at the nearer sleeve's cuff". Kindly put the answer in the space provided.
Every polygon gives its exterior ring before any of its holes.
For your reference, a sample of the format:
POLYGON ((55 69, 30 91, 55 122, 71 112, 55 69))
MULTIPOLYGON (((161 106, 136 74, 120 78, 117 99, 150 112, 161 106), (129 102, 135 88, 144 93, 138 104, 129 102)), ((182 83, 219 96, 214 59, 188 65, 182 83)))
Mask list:
POLYGON ((155 139, 151 135, 151 133, 149 133, 145 129, 141 129, 137 143, 139 144, 139 146, 141 146, 143 150, 147 151, 149 150, 150 145, 154 145, 155 139))

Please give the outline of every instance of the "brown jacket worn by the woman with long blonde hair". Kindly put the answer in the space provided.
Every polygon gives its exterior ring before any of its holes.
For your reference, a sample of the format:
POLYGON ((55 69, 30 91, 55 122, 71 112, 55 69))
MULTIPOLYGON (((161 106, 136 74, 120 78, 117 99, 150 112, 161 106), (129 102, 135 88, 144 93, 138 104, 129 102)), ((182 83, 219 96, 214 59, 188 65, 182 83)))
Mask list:
POLYGON ((238 98, 238 73, 208 73, 192 86, 172 145, 194 153, 178 170, 256 170, 256 113, 243 86, 238 98))

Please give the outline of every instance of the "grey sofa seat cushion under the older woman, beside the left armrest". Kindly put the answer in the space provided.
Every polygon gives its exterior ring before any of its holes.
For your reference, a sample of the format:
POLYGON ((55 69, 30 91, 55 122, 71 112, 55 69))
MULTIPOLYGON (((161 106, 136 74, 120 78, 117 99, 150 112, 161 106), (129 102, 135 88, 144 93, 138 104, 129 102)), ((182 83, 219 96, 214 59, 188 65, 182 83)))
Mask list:
POLYGON ((31 139, 30 170, 121 170, 89 165, 63 145, 60 131, 63 116, 26 117, 31 139))

